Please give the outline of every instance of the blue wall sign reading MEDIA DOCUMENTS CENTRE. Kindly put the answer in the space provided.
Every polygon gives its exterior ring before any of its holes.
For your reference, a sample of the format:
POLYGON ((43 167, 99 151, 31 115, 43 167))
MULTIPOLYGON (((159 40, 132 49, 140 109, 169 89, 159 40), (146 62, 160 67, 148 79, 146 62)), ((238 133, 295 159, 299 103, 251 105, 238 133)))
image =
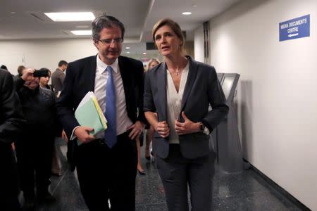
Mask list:
POLYGON ((280 23, 280 41, 310 36, 310 15, 280 23))

